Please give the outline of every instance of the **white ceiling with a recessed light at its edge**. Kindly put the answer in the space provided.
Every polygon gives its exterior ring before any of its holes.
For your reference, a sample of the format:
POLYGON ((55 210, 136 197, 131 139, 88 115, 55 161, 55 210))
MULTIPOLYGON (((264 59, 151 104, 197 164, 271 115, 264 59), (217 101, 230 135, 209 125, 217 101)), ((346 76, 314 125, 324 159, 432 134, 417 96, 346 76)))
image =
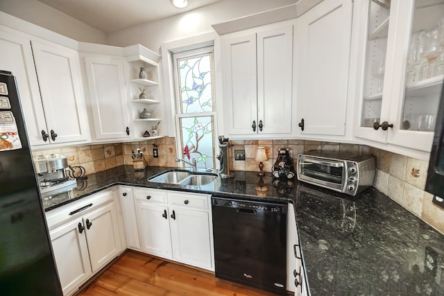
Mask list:
POLYGON ((104 33, 112 33, 178 15, 221 0, 188 0, 187 8, 175 8, 170 0, 38 0, 83 21, 104 33))

